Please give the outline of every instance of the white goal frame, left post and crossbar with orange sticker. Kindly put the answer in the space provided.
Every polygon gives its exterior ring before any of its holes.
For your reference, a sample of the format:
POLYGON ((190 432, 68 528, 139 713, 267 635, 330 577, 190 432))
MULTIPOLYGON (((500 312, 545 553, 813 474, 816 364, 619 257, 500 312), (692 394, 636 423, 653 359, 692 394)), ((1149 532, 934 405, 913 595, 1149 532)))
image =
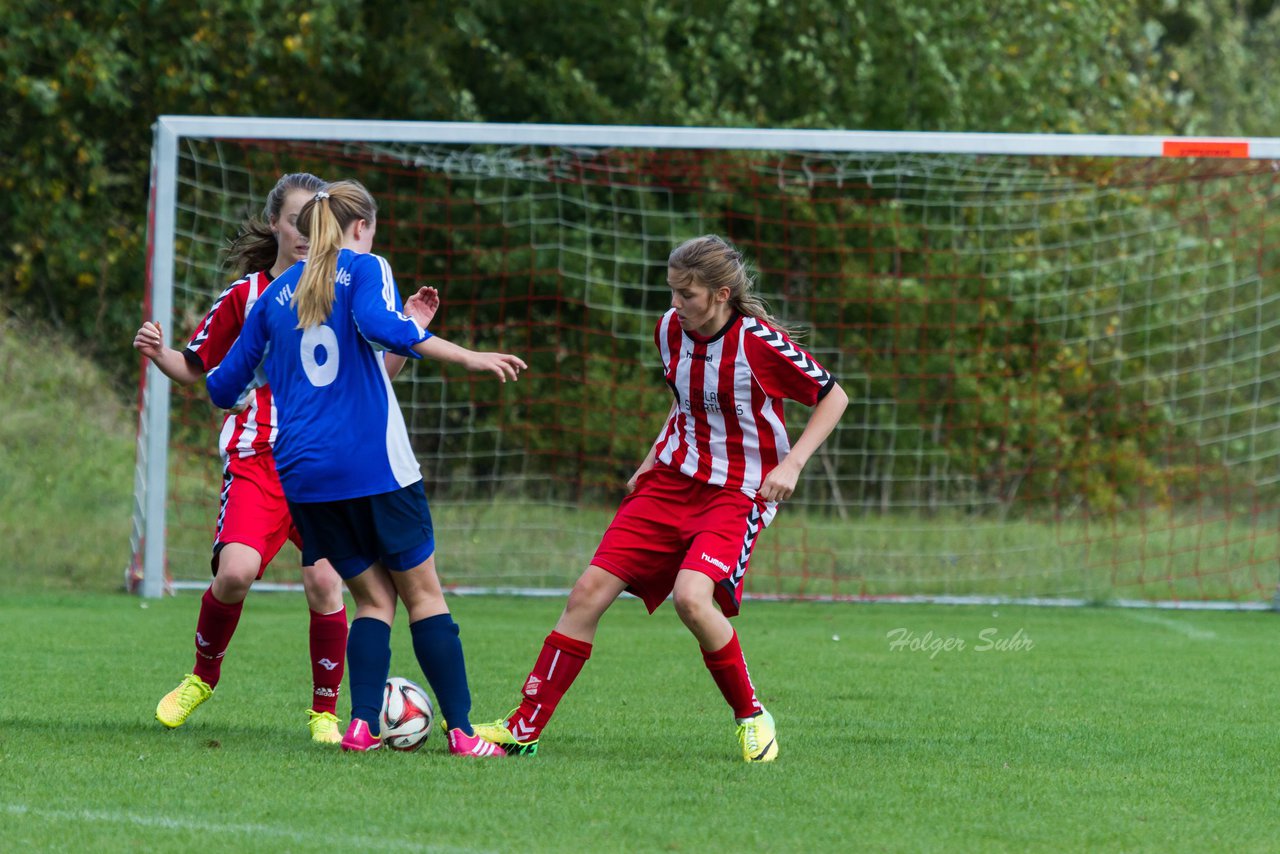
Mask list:
MULTIPOLYGON (((151 318, 172 346, 175 205, 183 138, 298 140, 461 145, 547 145, 563 147, 723 149, 767 151, 1074 155, 1110 157, 1249 157, 1280 160, 1280 138, 1192 138, 1156 136, 1034 133, 909 133, 788 131, 639 125, 503 124, 460 122, 375 122, 337 119, 223 118, 161 115, 154 125, 148 282, 151 318)), ((169 379, 147 364, 138 421, 134 474, 134 551, 142 548, 138 592, 165 593, 165 522, 169 465, 169 379), (141 520, 141 521, 137 521, 141 520)), ((954 598, 954 597, 951 597, 954 598)), ((1158 604, 1158 603, 1134 603, 1158 604)), ((1180 607, 1215 603, 1180 602, 1180 607)), ((1221 606, 1221 603, 1217 603, 1221 606)), ((1235 608, 1267 607, 1234 603, 1235 608)))

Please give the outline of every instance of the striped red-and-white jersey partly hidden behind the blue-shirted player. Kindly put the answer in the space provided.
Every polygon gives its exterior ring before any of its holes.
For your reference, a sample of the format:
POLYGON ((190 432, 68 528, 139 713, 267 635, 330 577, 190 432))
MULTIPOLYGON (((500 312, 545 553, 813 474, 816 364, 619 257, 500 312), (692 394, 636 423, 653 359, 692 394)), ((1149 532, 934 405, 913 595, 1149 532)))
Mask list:
MULTIPOLYGON (((270 273, 264 271, 250 273, 228 286, 191 335, 184 351, 187 360, 198 362, 206 374, 218 367, 239 337, 244 315, 270 283, 270 273)), ((246 391, 239 406, 244 408, 229 414, 223 421, 219 447, 228 457, 270 453, 275 443, 276 415, 275 401, 271 399, 271 389, 266 382, 246 391)))

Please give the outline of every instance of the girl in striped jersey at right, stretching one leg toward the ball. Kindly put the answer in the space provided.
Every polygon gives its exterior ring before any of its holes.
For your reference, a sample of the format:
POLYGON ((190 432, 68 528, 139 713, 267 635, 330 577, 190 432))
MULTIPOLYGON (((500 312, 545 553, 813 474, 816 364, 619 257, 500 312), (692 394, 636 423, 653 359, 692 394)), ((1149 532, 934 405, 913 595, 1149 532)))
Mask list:
POLYGON ((840 421, 849 398, 751 292, 741 254, 716 236, 668 259, 671 310, 655 342, 671 412, 627 483, 628 495, 570 593, 524 685, 520 707, 476 732, 508 753, 536 752, 543 727, 591 654, 600 617, 623 590, 653 612, 673 595, 703 661, 733 709, 742 758, 777 757, 728 617, 751 551, 777 503, 840 421), (791 444, 783 401, 814 407, 791 444))

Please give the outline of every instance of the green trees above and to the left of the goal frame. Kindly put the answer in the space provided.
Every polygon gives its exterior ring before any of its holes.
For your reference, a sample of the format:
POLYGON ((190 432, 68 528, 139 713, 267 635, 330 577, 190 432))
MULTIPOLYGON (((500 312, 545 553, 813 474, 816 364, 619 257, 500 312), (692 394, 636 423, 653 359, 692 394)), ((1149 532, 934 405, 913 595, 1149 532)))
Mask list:
POLYGON ((0 296, 123 378, 156 115, 1274 132, 1274 0, 12 0, 0 296))

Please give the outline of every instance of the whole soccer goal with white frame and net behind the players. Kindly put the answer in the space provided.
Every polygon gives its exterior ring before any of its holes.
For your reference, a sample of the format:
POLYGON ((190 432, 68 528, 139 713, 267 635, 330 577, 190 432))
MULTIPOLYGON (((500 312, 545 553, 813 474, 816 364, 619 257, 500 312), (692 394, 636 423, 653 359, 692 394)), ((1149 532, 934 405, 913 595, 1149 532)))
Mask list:
MULTIPOLYGON (((364 182, 402 293, 440 289, 436 332, 530 364, 516 384, 438 364, 396 382, 440 574, 554 592, 667 412, 667 254, 718 233, 851 398, 749 595, 1261 608, 1276 157, 1275 140, 163 117, 146 314, 184 344, 282 173, 364 182)), ((154 367, 138 399, 131 577, 204 586, 220 416, 154 367)), ((297 557, 266 580, 297 583, 297 557)))

